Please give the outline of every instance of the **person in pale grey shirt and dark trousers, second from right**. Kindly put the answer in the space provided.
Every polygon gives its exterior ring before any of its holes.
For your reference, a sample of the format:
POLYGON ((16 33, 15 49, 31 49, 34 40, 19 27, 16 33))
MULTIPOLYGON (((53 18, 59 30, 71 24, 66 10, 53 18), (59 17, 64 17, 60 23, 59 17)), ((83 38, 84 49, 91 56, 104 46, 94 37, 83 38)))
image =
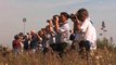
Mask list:
POLYGON ((60 18, 56 16, 55 20, 55 29, 56 29, 56 43, 57 43, 57 51, 60 52, 60 56, 62 57, 65 53, 65 49, 67 47, 68 41, 68 32, 69 32, 69 25, 67 23, 67 20, 69 18, 69 15, 66 12, 62 12, 60 15, 60 18), (60 20, 61 23, 60 24, 60 20))

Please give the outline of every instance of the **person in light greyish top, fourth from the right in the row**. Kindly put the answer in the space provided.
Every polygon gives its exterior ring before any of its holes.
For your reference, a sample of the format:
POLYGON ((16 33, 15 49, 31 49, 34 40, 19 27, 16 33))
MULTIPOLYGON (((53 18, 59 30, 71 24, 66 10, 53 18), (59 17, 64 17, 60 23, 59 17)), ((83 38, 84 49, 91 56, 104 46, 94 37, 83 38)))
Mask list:
POLYGON ((42 37, 43 54, 54 50, 54 35, 50 25, 46 26, 44 35, 42 37))

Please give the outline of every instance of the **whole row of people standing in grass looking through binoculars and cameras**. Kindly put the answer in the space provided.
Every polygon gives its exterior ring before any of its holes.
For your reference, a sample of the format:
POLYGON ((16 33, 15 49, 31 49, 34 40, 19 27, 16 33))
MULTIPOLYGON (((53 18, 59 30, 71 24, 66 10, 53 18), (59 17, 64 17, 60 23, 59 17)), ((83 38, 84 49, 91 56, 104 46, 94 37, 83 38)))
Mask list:
POLYGON ((23 37, 22 34, 15 36, 15 40, 13 41, 14 50, 20 49, 24 44, 25 50, 31 50, 34 53, 39 47, 43 53, 51 49, 59 52, 60 56, 62 56, 65 53, 69 39, 73 40, 72 47, 78 43, 79 51, 82 51, 83 48, 87 51, 96 49, 96 31, 86 9, 79 9, 76 14, 70 15, 62 12, 60 15, 54 15, 52 20, 48 20, 47 23, 46 28, 42 28, 37 34, 30 30, 30 34, 27 34, 27 36, 23 37), (68 18, 74 23, 70 36, 68 18), (23 39, 20 40, 22 37, 23 39), (22 44, 17 43, 17 41, 22 42, 22 44), (17 46, 21 44, 21 47, 15 48, 15 43, 17 46))

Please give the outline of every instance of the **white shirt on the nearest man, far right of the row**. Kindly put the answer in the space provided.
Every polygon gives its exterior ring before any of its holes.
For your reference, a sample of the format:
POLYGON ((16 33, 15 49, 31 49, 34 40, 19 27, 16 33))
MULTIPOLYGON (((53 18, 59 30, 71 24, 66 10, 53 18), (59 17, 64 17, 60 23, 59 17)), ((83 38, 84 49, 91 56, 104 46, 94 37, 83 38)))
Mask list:
POLYGON ((85 40, 88 40, 91 42, 92 48, 96 48, 96 30, 91 24, 90 20, 86 20, 81 25, 81 30, 83 32, 82 37, 85 40))

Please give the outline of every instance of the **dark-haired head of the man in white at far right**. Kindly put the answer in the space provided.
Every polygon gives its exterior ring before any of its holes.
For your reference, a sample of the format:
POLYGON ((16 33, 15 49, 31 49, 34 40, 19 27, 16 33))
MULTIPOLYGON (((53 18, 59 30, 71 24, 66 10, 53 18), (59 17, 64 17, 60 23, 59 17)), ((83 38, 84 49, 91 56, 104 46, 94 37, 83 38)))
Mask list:
POLYGON ((89 16, 89 13, 86 9, 79 9, 77 11, 77 17, 80 22, 85 22, 85 20, 89 16))

